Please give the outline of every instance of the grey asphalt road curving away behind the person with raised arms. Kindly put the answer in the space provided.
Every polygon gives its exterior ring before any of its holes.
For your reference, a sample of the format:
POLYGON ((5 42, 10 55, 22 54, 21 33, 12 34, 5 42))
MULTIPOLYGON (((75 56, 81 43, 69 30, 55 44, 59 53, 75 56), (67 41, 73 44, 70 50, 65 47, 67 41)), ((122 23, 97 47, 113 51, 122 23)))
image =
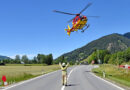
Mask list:
POLYGON ((68 69, 68 86, 61 84, 61 71, 25 81, 4 90, 121 90, 97 77, 90 70, 91 65, 81 65, 68 69))

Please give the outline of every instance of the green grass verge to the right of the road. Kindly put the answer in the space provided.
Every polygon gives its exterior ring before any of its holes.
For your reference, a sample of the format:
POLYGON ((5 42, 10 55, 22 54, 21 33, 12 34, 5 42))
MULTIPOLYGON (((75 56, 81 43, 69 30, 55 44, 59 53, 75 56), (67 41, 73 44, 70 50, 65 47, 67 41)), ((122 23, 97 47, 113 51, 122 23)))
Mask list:
POLYGON ((114 65, 100 65, 99 68, 94 68, 92 71, 101 77, 103 77, 104 71, 106 78, 130 87, 130 70, 118 68, 114 65))

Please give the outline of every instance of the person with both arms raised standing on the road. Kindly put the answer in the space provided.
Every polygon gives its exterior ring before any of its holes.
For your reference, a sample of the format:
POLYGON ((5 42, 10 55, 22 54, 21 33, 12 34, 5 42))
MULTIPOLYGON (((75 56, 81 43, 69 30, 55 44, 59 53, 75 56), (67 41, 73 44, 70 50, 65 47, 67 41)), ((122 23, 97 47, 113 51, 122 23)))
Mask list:
POLYGON ((62 70, 62 85, 67 86, 67 68, 69 66, 69 63, 67 63, 67 65, 65 63, 59 63, 59 65, 62 70))

